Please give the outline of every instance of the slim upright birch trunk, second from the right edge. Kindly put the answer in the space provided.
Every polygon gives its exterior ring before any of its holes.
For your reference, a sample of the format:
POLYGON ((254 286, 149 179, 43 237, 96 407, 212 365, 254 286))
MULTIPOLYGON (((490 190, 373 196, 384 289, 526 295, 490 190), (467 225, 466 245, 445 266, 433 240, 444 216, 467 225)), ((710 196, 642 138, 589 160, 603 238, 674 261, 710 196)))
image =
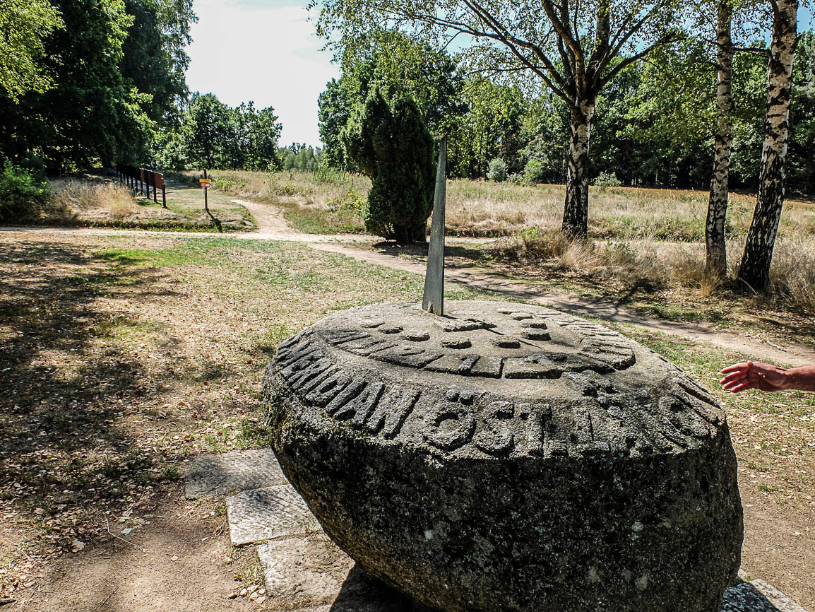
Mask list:
POLYGON ((727 274, 727 243, 725 219, 727 217, 730 153, 733 149, 731 118, 733 116, 733 39, 730 24, 733 7, 729 0, 719 0, 716 18, 716 63, 719 65, 716 87, 716 138, 713 145, 713 177, 707 202, 705 246, 707 261, 705 272, 712 277, 727 274))

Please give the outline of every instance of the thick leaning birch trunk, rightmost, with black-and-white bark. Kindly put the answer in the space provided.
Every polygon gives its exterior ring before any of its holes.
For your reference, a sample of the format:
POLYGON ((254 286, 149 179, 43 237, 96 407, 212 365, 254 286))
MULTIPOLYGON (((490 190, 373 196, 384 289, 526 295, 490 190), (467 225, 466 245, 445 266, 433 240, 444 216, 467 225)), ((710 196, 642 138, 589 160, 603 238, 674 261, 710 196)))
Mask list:
POLYGON ((759 195, 738 272, 739 279, 759 291, 769 286, 769 267, 773 261, 773 246, 784 205, 784 162, 789 131, 792 58, 797 41, 798 2, 777 0, 773 9, 759 195))

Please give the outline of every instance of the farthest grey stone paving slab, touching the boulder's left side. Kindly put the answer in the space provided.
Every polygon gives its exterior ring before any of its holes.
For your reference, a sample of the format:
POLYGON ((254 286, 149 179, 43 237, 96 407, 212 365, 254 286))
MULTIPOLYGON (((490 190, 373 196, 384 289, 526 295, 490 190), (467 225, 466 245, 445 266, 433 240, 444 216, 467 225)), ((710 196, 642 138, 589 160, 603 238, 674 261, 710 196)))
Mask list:
POLYGON ((197 457, 187 472, 186 494, 198 499, 287 482, 271 449, 235 450, 197 457))

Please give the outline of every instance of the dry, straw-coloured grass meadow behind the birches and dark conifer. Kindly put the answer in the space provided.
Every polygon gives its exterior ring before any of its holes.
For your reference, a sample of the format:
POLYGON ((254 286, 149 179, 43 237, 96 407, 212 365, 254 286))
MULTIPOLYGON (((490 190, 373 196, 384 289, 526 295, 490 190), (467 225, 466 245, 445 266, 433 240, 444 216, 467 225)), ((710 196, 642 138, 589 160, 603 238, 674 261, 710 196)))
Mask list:
MULTIPOLYGON (((363 233, 370 180, 321 170, 271 174, 218 171, 216 189, 284 208, 286 220, 308 233, 363 233)), ((619 283, 682 295, 730 297, 746 287, 707 277, 704 226, 707 193, 687 189, 592 187, 588 242, 560 233, 563 185, 488 181, 447 182, 449 237, 495 237, 478 247, 478 263, 512 273, 559 276, 567 288, 619 292, 619 283), (722 293, 724 291, 724 294, 722 293)), ((729 277, 738 270, 756 197, 732 193, 727 220, 729 277)), ((791 198, 782 215, 769 294, 757 308, 815 313, 815 202, 791 198)), ((683 298, 680 298, 680 301, 683 298)), ((659 313, 654 313, 658 314, 659 313)))

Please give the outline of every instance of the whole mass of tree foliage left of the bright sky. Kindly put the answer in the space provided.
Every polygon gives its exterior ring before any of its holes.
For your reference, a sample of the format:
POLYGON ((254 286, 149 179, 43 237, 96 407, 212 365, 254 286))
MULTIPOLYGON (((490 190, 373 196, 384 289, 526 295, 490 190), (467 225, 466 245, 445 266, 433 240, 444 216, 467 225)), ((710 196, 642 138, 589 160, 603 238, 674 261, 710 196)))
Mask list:
POLYGON ((22 95, 0 95, 0 157, 39 157, 51 173, 147 165, 187 96, 192 0, 0 0, 0 9, 2 36, 23 11, 42 43, 27 56, 33 67, 3 48, 0 64, 35 73, 22 95))

